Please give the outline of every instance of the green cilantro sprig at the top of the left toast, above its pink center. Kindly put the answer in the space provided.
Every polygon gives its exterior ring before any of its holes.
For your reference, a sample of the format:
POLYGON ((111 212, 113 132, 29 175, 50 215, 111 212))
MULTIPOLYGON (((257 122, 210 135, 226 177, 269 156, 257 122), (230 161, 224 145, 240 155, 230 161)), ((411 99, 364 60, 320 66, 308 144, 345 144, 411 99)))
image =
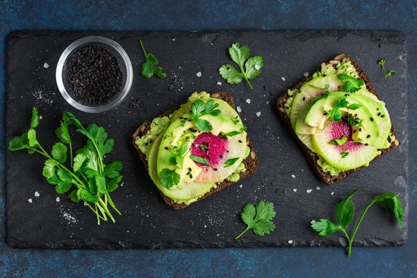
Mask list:
POLYGON ((191 112, 193 112, 192 119, 195 121, 195 127, 197 127, 199 131, 210 132, 213 130, 213 126, 210 122, 208 122, 208 120, 200 119, 200 117, 204 115, 220 115, 222 111, 217 109, 218 107, 219 104, 215 103, 213 99, 208 100, 206 104, 204 104, 204 101, 201 99, 197 99, 191 104, 191 112))

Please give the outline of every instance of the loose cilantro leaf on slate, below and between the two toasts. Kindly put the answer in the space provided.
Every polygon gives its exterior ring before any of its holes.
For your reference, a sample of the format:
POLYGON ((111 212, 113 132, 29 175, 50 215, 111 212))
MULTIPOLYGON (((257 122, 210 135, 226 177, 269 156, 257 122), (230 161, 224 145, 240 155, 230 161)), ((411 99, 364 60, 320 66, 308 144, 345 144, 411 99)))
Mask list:
POLYGON ((265 236, 275 229, 272 218, 275 217, 274 204, 272 202, 259 201, 256 206, 247 203, 243 206, 240 218, 247 224, 245 231, 236 236, 240 238, 246 231, 252 229, 256 236, 265 236))

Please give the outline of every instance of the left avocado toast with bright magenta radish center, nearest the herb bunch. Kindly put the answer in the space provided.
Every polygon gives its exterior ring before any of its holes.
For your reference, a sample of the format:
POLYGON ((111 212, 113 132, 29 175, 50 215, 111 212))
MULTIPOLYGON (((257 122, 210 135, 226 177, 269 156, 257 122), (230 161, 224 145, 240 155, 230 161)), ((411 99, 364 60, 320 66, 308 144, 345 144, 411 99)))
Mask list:
POLYGON ((144 122, 133 145, 174 209, 250 176, 258 158, 227 92, 193 93, 186 104, 144 122))

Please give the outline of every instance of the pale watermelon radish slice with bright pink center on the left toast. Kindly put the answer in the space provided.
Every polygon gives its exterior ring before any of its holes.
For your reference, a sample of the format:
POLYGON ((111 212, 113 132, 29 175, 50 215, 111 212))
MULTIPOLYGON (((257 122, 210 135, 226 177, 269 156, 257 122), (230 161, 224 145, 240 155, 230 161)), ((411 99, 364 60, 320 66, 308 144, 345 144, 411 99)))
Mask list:
POLYGON ((191 146, 191 155, 206 158, 210 166, 195 162, 202 167, 195 182, 219 182, 229 177, 245 158, 246 133, 240 133, 224 140, 213 133, 201 133, 191 146), (204 145, 204 147, 201 147, 204 145), (204 150, 202 150, 204 149, 204 150), (238 158, 232 165, 225 167, 229 159, 238 158))

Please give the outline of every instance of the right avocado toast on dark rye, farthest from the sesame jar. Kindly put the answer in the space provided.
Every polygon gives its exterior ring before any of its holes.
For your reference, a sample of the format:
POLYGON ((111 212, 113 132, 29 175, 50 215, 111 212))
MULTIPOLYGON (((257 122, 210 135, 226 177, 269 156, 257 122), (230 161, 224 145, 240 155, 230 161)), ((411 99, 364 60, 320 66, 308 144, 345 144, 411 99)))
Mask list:
POLYGON ((284 124, 318 177, 333 184, 400 145, 384 102, 346 54, 277 99, 284 124))

